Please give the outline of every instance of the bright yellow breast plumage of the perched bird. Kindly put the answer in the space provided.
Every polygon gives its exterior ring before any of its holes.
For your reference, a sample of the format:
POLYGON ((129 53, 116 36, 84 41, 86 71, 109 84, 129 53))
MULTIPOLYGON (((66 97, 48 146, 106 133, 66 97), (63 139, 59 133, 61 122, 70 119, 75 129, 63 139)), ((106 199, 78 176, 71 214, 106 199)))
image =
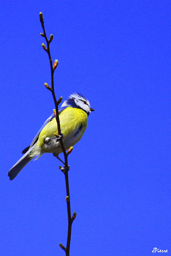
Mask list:
MULTIPOLYGON (((60 127, 63 134, 63 142, 66 150, 70 146, 75 145, 83 136, 87 128, 87 114, 79 108, 67 107, 59 115, 60 127)), ((53 118, 46 126, 42 129, 39 135, 37 146, 44 148, 44 139, 52 138, 54 134, 58 134, 58 126, 56 118, 53 118)), ((60 146, 58 143, 57 147, 60 146)), ((46 151, 46 150, 45 150, 46 151)))

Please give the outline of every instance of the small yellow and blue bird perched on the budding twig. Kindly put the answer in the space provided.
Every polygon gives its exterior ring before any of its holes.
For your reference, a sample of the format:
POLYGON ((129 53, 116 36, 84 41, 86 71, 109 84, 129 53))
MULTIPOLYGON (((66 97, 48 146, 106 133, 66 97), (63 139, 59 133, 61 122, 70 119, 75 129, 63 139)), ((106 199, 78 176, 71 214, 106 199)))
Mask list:
MULTIPOLYGON (((64 101, 58 112, 62 140, 66 150, 74 146, 82 138, 87 128, 88 116, 92 111, 94 109, 90 107, 89 101, 80 93, 73 93, 64 101)), ((56 116, 53 113, 44 122, 30 146, 22 151, 24 156, 9 170, 8 176, 10 180, 13 180, 33 158, 37 156, 35 159, 37 160, 44 153, 52 153, 64 163, 58 156, 63 151, 55 134, 58 134, 58 126, 56 116)))

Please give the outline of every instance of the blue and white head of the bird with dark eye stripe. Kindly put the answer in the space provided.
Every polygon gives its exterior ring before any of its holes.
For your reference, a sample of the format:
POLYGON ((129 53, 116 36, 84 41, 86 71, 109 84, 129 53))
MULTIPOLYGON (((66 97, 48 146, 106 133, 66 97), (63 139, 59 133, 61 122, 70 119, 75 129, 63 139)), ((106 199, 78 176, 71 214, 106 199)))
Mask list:
POLYGON ((61 107, 66 106, 70 106, 72 108, 80 108, 84 110, 87 115, 89 115, 91 111, 94 111, 94 109, 90 107, 89 101, 80 93, 71 94, 68 100, 65 100, 61 107))

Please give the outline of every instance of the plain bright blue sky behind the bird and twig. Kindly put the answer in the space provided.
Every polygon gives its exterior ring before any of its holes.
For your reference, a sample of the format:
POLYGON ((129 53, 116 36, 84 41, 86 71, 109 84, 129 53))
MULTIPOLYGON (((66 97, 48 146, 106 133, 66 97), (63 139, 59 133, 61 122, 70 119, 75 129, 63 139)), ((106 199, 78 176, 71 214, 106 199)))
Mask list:
POLYGON ((0 8, 1 255, 65 255, 60 162, 45 154, 7 176, 54 108, 39 12, 54 35, 56 97, 80 92, 95 109, 69 156, 70 255, 171 253, 170 1, 18 0, 0 8))

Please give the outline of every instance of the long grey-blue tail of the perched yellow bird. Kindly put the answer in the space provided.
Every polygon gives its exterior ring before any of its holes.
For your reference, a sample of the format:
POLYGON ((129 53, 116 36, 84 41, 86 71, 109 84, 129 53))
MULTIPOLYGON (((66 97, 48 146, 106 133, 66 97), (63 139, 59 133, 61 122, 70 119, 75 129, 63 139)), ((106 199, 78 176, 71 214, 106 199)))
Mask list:
POLYGON ((12 168, 9 170, 8 176, 10 177, 10 180, 14 180, 22 168, 24 168, 24 166, 26 166, 26 164, 28 164, 28 162, 30 162, 38 154, 42 156, 40 153, 40 148, 34 144, 34 146, 32 146, 32 148, 30 148, 26 154, 24 154, 24 156, 22 156, 22 158, 20 158, 20 160, 18 160, 18 162, 16 162, 16 164, 14 164, 14 166, 12 166, 12 168))

